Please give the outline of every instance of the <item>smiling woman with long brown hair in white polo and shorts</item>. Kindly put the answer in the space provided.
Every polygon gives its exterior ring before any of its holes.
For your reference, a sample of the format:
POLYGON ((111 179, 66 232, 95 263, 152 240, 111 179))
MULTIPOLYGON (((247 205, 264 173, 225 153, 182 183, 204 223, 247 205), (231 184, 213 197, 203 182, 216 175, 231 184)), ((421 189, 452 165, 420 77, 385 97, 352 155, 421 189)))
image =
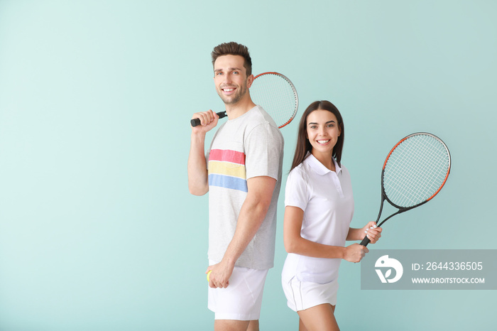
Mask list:
POLYGON ((342 259, 359 262, 381 228, 368 222, 349 227, 354 214, 349 171, 342 165, 344 123, 337 107, 317 101, 300 119, 297 148, 285 190, 283 238, 288 252, 282 283, 288 307, 300 317, 299 330, 339 330, 334 318, 342 259))

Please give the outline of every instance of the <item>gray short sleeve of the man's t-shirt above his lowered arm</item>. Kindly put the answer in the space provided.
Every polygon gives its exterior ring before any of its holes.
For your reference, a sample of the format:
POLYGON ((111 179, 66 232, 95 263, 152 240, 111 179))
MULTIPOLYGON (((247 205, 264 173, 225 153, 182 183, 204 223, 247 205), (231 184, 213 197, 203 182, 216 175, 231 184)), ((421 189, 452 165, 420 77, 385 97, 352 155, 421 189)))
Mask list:
POLYGON ((283 136, 270 124, 253 128, 244 142, 246 179, 257 176, 280 178, 280 161, 283 158, 283 136))

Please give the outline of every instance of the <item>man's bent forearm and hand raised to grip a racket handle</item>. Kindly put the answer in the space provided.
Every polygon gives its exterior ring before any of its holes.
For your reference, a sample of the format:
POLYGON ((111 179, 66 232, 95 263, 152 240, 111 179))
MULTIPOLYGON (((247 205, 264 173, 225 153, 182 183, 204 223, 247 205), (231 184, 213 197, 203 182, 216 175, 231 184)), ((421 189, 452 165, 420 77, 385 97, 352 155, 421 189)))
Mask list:
POLYGON ((209 192, 207 178, 207 163, 205 161, 205 134, 217 125, 219 116, 209 110, 193 114, 194 119, 200 119, 201 125, 192 127, 192 142, 188 156, 188 189, 192 195, 204 195, 209 192))

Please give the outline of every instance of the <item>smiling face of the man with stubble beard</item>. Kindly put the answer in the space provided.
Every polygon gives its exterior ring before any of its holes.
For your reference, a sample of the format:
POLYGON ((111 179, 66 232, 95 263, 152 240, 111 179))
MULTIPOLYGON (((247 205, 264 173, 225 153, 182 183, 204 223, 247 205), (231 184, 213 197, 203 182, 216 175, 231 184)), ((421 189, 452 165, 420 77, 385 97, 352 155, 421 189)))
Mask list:
POLYGON ((236 104, 252 84, 253 76, 246 77, 244 58, 240 55, 222 55, 214 62, 214 84, 225 104, 236 104))

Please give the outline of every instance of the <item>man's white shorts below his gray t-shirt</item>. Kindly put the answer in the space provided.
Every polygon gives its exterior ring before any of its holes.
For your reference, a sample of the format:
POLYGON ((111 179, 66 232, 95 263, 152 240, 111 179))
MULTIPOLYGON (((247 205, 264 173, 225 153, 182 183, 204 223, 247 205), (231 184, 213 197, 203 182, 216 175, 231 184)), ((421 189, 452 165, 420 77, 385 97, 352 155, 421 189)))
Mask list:
MULTIPOLYGON (((211 263, 212 265, 212 263, 211 263)), ((215 320, 258 320, 268 270, 235 266, 227 288, 209 287, 209 310, 215 320)))

